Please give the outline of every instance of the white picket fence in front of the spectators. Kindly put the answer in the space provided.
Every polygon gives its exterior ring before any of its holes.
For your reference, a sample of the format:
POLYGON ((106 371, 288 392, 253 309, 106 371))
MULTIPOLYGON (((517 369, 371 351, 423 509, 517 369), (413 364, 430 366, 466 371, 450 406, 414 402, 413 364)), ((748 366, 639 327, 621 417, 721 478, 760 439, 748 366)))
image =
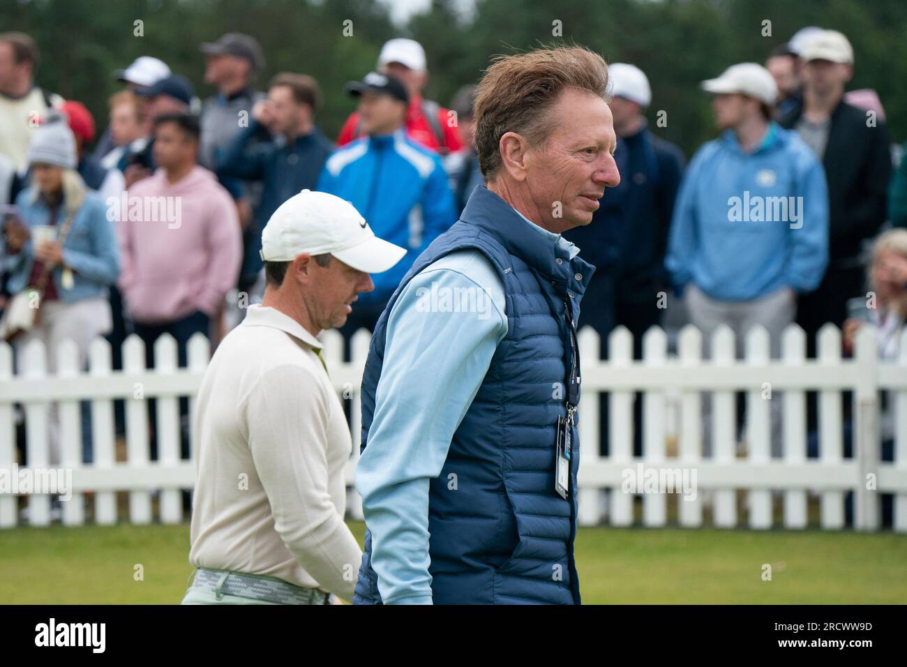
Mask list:
MULTIPOLYGON (((580 525, 633 525, 634 498, 623 489, 629 471, 664 474, 695 471, 696 498, 677 497, 676 524, 707 525, 704 506, 711 509, 711 525, 755 529, 807 527, 810 495, 819 503, 819 526, 844 527, 844 493, 854 494, 854 525, 876 530, 880 525, 881 493, 895 494, 894 529, 907 532, 907 332, 902 337, 901 358, 880 361, 876 332, 860 330, 853 358, 841 356, 841 335, 832 326, 819 335, 817 359, 805 359, 805 336, 791 326, 783 339, 783 358, 770 360, 765 329, 753 329, 746 338, 746 358, 735 359, 734 336, 718 329, 712 340, 712 358, 703 360, 702 337, 697 329, 682 329, 678 355, 668 355, 668 337, 651 329, 643 341, 643 360, 632 358, 632 340, 626 329, 610 337, 610 359, 599 360, 599 338, 591 329, 580 331, 582 402, 579 475, 580 525), (771 394, 783 401, 783 456, 770 455, 771 394), (806 457, 806 400, 808 389, 819 391, 820 457, 806 457), (853 391, 853 457, 844 458, 841 392, 853 391), (894 397, 896 437, 894 462, 882 462, 879 451, 879 392, 894 397), (599 456, 599 403, 596 394, 610 392, 610 453, 599 456), (643 456, 633 456, 634 392, 643 397, 643 456), (746 392, 746 456, 738 456, 735 392, 746 392), (702 392, 712 395, 712 455, 702 456, 702 392), (676 456, 668 456, 668 444, 676 456), (604 491, 606 502, 602 502, 604 491), (743 492, 745 510, 738 513, 737 494, 743 492), (782 520, 773 518, 773 496, 783 503, 782 520), (741 522, 738 518, 745 514, 741 522)), ((347 513, 361 518, 362 508, 352 488, 359 443, 358 387, 368 350, 369 336, 360 331, 353 340, 355 361, 342 361, 342 339, 324 334, 325 358, 339 395, 352 401, 351 429, 354 456, 346 468, 349 486, 347 513)), ((26 456, 32 470, 62 467, 72 470, 73 498, 63 502, 64 525, 86 522, 85 495, 93 495, 93 522, 110 525, 121 520, 117 492, 128 492, 128 521, 149 524, 184 520, 180 491, 191 489, 195 465, 180 459, 180 396, 194 396, 207 365, 208 341, 197 334, 190 341, 188 368, 177 368, 175 341, 164 336, 154 348, 157 368, 146 369, 141 339, 131 337, 123 346, 123 370, 111 370, 111 349, 103 339, 93 342, 87 372, 77 368, 73 344, 59 350, 58 372, 44 372, 44 349, 33 343, 23 350, 31 363, 28 375, 13 372, 12 349, 0 344, 0 472, 16 466, 14 404, 24 406, 26 456), (150 461, 146 399, 157 398, 158 460, 150 461), (126 438, 117 456, 113 400, 125 399, 126 438), (80 400, 91 400, 93 464, 82 464, 80 400), (58 405, 60 462, 51 466, 48 409, 58 405), (158 502, 155 505, 154 499, 158 502)), ((194 434, 190 440, 194 439, 194 434)), ((193 443, 194 445, 194 443, 193 443)), ((193 446, 194 451, 194 446, 193 446)), ((50 525, 50 495, 27 495, 29 525, 50 525)), ((668 520, 668 494, 643 493, 641 524, 672 525, 668 520)), ((15 495, 0 495, 0 527, 20 523, 15 495)))

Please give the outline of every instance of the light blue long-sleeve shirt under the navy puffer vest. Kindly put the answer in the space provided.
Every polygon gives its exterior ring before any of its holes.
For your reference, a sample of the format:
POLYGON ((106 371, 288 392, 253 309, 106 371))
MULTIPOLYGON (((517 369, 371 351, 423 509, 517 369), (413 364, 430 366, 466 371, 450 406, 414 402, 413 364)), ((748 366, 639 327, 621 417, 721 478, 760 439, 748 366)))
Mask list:
MULTIPOLYGON (((527 223, 571 257, 579 252, 561 235, 527 223)), ((432 603, 429 482, 441 474, 453 434, 506 335, 503 283, 478 250, 457 250, 433 262, 391 309, 375 415, 356 466, 385 604, 432 603), (475 307, 452 311, 464 302, 475 307)))

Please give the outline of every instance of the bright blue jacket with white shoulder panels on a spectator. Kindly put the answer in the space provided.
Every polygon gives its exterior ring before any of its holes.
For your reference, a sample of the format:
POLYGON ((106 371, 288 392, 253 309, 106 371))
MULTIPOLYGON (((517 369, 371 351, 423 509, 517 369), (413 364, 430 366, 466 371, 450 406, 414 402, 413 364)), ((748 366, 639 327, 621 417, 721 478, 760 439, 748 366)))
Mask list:
POLYGON ((415 258, 457 218, 441 159, 402 129, 331 153, 317 190, 349 201, 377 236, 408 250, 393 269, 372 277, 375 290, 360 294, 360 303, 390 299, 415 258))

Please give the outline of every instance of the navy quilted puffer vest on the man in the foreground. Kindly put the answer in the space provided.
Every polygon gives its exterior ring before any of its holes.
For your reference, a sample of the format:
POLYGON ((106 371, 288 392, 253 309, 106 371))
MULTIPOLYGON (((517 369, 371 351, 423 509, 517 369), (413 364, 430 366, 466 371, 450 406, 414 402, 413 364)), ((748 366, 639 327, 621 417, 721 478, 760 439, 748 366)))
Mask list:
MULTIPOLYGON (((484 186, 473 191, 460 221, 415 260, 378 320, 362 381, 362 448, 375 411, 388 314, 414 275, 465 249, 483 252, 498 271, 508 330, 453 435, 441 475, 430 481, 432 598, 435 604, 579 604, 576 424, 567 500, 554 490, 555 440, 558 417, 567 412, 571 364, 565 299, 572 299, 578 319, 595 268, 571 260, 484 186)), ((381 603, 371 554, 366 531, 355 603, 381 603)))

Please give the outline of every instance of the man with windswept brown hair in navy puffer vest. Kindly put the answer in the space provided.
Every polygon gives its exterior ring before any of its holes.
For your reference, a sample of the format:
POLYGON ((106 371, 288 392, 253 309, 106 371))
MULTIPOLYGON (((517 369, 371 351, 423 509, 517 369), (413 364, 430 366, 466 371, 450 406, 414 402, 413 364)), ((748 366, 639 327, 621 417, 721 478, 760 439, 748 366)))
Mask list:
POLYGON ((580 603, 575 324, 595 270, 561 232, 619 183, 608 68, 579 47, 495 62, 487 185, 415 260, 362 384, 356 603, 580 603))

